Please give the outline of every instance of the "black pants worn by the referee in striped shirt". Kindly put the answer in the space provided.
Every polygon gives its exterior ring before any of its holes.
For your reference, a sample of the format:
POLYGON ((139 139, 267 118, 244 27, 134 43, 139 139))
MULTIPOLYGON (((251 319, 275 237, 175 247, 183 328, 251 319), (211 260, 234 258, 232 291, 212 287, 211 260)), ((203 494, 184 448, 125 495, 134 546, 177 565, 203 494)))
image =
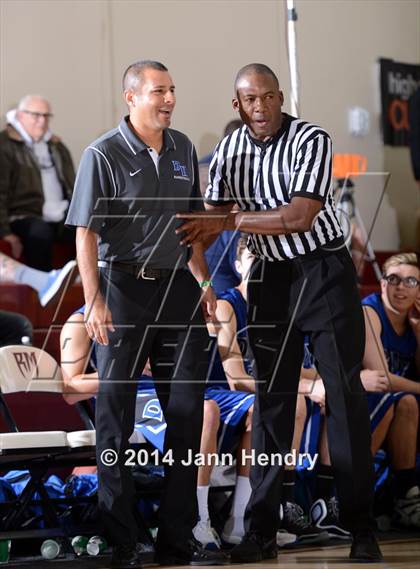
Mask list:
MULTIPOLYGON (((291 261, 256 260, 248 284, 248 333, 257 368, 252 446, 288 453, 294 430, 304 336, 326 389, 330 455, 342 524, 374 527, 373 461, 365 390, 360 380, 365 333, 355 270, 346 248, 291 261)), ((283 471, 251 467, 246 526, 273 536, 283 471)))

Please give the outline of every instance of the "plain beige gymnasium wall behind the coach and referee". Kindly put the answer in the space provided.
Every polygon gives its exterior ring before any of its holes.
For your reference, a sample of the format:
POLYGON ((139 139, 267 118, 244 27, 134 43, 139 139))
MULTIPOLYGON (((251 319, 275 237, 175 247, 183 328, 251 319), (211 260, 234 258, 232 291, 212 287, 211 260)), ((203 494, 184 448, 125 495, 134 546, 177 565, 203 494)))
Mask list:
MULTIPOLYGON (((369 227, 385 179, 387 197, 372 235, 378 249, 414 247, 419 206, 406 148, 385 148, 379 129, 376 61, 420 61, 416 0, 297 0, 301 116, 326 128, 337 152, 367 156, 356 201, 369 227), (370 112, 370 132, 354 138, 347 110, 370 112), (399 242, 400 241, 400 242, 399 242)), ((199 155, 234 116, 232 82, 261 61, 278 73, 289 110, 285 2, 280 0, 1 0, 0 113, 26 93, 53 106, 53 129, 76 162, 122 113, 121 75, 134 60, 164 62, 178 97, 173 127, 199 155)))

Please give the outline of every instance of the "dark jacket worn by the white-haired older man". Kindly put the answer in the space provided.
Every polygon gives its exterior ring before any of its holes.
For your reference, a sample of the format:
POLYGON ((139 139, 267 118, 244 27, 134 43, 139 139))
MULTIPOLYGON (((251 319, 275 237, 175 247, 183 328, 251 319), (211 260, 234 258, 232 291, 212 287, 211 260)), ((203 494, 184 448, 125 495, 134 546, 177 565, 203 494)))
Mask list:
MULTIPOLYGON (((70 201, 75 172, 70 152, 56 136, 48 141, 51 157, 70 201)), ((32 150, 11 125, 0 132, 0 238, 12 233, 10 218, 42 217, 44 193, 41 172, 32 150)))

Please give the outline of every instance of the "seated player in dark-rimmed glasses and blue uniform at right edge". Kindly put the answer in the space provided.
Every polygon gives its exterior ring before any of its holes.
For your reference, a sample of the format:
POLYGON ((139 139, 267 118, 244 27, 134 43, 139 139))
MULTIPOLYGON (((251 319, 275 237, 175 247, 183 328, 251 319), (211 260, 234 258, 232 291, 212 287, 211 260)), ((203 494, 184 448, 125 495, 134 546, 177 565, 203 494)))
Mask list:
POLYGON ((420 269, 415 253, 400 253, 383 267, 381 293, 363 300, 363 367, 385 381, 363 381, 368 391, 372 451, 384 442, 393 471, 394 518, 420 528, 416 450, 420 401, 420 269))

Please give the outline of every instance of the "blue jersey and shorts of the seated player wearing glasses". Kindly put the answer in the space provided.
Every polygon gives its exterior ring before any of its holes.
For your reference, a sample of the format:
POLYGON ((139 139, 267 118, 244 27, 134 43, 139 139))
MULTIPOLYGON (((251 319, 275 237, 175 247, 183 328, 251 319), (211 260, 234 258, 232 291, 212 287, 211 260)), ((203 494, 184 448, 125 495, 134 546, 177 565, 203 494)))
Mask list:
MULTIPOLYGON (((415 367, 417 341, 411 327, 407 326, 406 331, 401 336, 395 332, 385 312, 381 295, 378 293, 370 294, 364 298, 362 304, 373 308, 379 316, 381 342, 389 371, 395 375, 419 381, 415 367)), ((367 394, 372 432, 382 421, 388 409, 404 395, 405 392, 367 394)))

